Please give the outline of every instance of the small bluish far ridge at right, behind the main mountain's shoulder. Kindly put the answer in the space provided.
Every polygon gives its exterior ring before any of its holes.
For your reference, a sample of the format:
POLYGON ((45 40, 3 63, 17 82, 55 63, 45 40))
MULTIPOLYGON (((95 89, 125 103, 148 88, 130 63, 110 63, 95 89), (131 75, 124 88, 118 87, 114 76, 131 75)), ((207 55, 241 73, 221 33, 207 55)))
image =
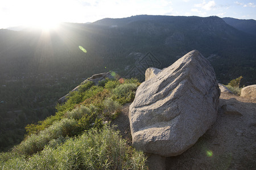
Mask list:
POLYGON ((228 17, 222 19, 232 27, 256 36, 256 20, 254 19, 236 19, 228 17))

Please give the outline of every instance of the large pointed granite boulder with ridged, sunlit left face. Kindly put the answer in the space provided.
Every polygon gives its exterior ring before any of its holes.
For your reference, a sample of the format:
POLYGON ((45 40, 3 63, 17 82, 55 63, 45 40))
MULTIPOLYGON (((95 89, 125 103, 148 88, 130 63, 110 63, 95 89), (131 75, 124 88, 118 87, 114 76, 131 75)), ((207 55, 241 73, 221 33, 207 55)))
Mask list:
POLYGON ((213 67, 197 50, 143 82, 130 105, 133 145, 176 156, 214 123, 220 90, 213 67))

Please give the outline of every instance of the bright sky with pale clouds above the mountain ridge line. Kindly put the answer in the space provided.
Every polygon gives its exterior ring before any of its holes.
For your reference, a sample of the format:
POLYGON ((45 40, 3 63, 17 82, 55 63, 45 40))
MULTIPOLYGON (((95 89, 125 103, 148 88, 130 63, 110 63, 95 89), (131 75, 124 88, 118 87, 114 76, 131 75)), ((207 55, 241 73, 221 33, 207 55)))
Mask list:
POLYGON ((256 20, 255 0, 0 0, 0 28, 55 27, 133 15, 219 16, 256 20))

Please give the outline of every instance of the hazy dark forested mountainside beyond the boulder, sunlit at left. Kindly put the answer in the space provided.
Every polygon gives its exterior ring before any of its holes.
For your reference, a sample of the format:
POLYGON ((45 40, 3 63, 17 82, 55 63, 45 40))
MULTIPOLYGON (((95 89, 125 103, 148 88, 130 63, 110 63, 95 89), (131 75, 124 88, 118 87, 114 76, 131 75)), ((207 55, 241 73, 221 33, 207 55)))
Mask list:
POLYGON ((89 76, 113 70, 143 80, 146 67, 162 69, 193 49, 209 59, 219 82, 242 75, 241 86, 256 83, 256 38, 217 16, 138 15, 63 23, 51 32, 1 29, 1 149, 18 143, 25 125, 55 113, 57 99, 89 76))

